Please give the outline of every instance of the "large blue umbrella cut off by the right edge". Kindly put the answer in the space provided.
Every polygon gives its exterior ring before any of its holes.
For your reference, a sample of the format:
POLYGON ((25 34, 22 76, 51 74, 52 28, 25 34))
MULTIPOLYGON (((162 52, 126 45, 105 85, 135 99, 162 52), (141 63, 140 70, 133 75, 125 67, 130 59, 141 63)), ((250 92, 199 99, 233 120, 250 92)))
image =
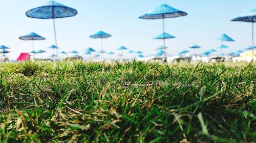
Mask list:
MULTIPOLYGON (((242 16, 239 16, 237 18, 232 19, 231 21, 243 21, 243 22, 251 22, 252 23, 252 45, 251 47, 254 47, 253 39, 254 39, 254 33, 253 33, 253 26, 254 22, 256 22, 256 9, 249 11, 246 14, 243 14, 242 16)), ((251 55, 252 55, 252 61, 253 61, 253 48, 251 48, 251 55)))

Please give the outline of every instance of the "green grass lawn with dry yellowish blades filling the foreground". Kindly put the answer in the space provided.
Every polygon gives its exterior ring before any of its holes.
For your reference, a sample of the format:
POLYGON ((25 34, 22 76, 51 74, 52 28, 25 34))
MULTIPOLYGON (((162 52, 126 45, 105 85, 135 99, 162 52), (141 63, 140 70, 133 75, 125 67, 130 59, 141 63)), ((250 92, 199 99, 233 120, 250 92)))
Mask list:
POLYGON ((0 65, 1 142, 256 142, 256 66, 0 65))

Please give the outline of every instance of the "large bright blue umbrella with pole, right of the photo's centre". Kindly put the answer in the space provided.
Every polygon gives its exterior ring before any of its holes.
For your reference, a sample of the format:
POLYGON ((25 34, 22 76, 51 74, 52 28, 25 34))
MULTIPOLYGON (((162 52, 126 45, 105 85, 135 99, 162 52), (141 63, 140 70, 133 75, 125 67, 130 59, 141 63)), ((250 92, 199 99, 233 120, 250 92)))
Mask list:
MULTIPOLYGON (((152 11, 147 12, 146 14, 140 16, 141 19, 162 19, 163 20, 163 34, 165 33, 164 29, 164 19, 165 18, 174 18, 179 16, 186 16, 187 13, 170 7, 166 4, 160 5, 153 9, 152 11)), ((165 39, 163 39, 164 46, 164 57, 165 57, 165 39)))

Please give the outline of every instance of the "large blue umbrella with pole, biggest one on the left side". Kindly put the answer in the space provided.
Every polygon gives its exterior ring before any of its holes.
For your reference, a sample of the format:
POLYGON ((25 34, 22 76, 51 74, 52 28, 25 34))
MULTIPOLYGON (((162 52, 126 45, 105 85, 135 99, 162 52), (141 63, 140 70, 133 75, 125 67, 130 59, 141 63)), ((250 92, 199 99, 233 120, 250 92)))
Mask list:
MULTIPOLYGON (((31 9, 26 12, 26 15, 31 18, 39 19, 53 19, 55 45, 57 46, 57 36, 55 28, 55 18, 72 17, 77 14, 77 10, 67 7, 65 5, 59 4, 54 1, 50 1, 47 4, 31 9)), ((58 48, 56 48, 56 56, 58 59, 58 48)))

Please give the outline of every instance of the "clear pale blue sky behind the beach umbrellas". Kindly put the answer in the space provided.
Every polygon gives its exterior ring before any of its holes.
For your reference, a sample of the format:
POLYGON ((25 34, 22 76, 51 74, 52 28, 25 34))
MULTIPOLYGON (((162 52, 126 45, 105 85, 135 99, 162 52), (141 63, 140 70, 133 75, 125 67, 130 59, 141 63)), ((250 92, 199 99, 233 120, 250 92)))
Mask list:
MULTIPOLYGON (((41 6, 46 0, 0 0, 0 45, 10 47, 7 55, 15 60, 20 52, 30 52, 32 41, 19 40, 19 36, 34 32, 46 40, 35 41, 35 49, 47 50, 40 55, 48 58, 54 44, 52 19, 34 19, 26 16, 26 11, 41 6)), ((162 40, 153 39, 162 33, 162 20, 146 20, 138 17, 161 4, 167 4, 188 13, 187 16, 165 19, 165 31, 176 38, 166 40, 166 52, 177 55, 181 50, 194 44, 200 45, 197 53, 220 46, 218 35, 227 34, 234 42, 224 42, 229 46, 224 52, 245 49, 251 45, 251 23, 231 22, 241 14, 256 9, 254 0, 58 0, 60 4, 75 8, 74 17, 56 19, 59 51, 77 50, 81 55, 88 47, 101 49, 99 39, 89 36, 98 31, 112 35, 103 39, 104 50, 120 53, 121 45, 130 50, 141 50, 144 55, 153 55, 162 40)), ((125 51, 124 51, 125 53, 125 51)))

